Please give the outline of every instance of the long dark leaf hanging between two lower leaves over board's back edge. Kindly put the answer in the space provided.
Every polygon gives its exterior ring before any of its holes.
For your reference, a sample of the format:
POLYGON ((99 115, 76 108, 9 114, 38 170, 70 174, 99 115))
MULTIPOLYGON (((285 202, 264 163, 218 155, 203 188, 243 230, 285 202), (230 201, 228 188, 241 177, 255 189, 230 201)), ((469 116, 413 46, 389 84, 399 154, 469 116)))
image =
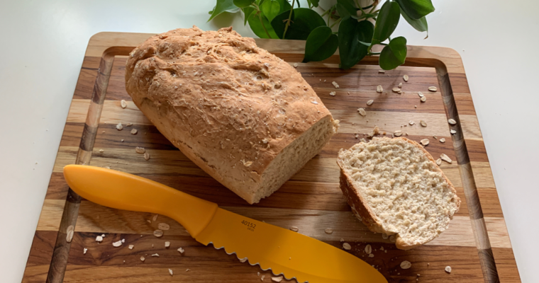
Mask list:
POLYGON ((369 21, 358 22, 355 18, 345 18, 339 25, 339 55, 341 69, 350 69, 367 55, 369 45, 374 33, 374 25, 369 21))

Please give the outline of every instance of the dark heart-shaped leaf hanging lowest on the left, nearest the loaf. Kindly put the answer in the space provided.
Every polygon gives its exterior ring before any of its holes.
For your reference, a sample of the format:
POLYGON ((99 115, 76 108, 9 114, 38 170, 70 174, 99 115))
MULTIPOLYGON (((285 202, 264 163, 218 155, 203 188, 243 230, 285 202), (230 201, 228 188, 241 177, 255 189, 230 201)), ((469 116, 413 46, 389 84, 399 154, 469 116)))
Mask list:
POLYGON ((335 53, 339 39, 331 28, 320 26, 315 28, 305 42, 305 57, 303 62, 322 61, 335 53))

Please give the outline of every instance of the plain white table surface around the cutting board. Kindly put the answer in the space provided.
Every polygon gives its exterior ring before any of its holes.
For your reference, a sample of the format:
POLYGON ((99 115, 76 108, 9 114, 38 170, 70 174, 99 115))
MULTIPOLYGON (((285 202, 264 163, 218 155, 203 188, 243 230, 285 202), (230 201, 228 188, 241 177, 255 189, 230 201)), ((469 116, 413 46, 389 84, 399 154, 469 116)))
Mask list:
MULTIPOLYGON (((401 20, 411 45, 462 55, 523 282, 538 282, 539 1, 433 1, 430 36, 401 20)), ((20 282, 91 35, 162 33, 206 23, 214 0, 0 1, 0 277, 20 282)))

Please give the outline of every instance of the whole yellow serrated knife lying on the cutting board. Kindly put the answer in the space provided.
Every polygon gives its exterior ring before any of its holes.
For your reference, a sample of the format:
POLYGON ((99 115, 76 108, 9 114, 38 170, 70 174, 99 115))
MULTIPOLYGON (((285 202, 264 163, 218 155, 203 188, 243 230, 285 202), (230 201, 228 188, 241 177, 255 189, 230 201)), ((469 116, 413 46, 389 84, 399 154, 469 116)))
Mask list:
POLYGON ((81 197, 116 209, 163 214, 182 224, 196 241, 224 248, 251 265, 298 282, 387 282, 344 250, 308 236, 250 219, 128 173, 93 166, 64 167, 67 184, 81 197))

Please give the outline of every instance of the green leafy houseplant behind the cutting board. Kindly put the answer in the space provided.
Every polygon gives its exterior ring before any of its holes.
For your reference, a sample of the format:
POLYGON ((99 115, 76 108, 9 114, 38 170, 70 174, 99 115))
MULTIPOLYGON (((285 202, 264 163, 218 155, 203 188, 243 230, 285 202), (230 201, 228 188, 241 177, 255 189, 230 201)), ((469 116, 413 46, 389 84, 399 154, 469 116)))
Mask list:
MULTIPOLYGON (((337 48, 339 67, 349 69, 365 56, 379 54, 382 69, 395 69, 406 60, 406 38, 391 38, 401 15, 413 28, 428 33, 426 15, 434 11, 431 0, 337 0, 326 10, 319 0, 216 0, 210 18, 223 12, 245 15, 244 24, 261 38, 306 40, 304 62, 322 61, 337 48), (361 3, 360 3, 361 2, 361 3), (335 28, 337 31, 333 31, 335 28), (384 45, 382 52, 372 52, 384 45)), ((428 35, 427 35, 428 37, 428 35)))

